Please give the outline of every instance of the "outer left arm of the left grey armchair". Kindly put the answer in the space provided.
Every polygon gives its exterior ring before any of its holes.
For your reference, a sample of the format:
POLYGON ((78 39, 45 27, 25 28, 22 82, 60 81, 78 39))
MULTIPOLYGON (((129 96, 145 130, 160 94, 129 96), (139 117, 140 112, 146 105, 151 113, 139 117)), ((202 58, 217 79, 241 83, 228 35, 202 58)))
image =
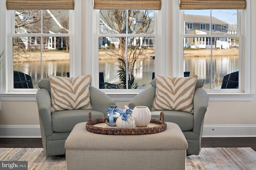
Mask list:
POLYGON ((36 93, 36 102, 40 119, 40 126, 44 130, 46 137, 53 134, 52 117, 51 117, 51 98, 48 90, 45 88, 38 89, 36 93))

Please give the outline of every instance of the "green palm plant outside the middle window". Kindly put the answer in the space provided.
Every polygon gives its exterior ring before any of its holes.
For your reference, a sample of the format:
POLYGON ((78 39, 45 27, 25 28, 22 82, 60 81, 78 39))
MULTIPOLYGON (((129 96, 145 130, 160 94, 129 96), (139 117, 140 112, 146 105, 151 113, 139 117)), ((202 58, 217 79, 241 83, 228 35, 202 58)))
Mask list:
MULTIPOLYGON (((124 59, 118 58, 120 65, 118 66, 120 70, 117 70, 118 77, 120 79, 120 84, 123 89, 126 89, 126 61, 124 59)), ((128 74, 128 89, 135 89, 138 87, 138 82, 134 82, 134 75, 128 74)))

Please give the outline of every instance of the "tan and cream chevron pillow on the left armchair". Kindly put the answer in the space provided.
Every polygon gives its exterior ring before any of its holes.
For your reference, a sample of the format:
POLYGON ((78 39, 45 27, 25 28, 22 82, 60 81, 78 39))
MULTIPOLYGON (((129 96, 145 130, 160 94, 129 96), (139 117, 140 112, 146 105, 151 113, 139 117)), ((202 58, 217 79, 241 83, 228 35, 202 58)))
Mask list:
POLYGON ((90 75, 78 77, 49 76, 51 112, 60 110, 92 109, 90 102, 90 75))

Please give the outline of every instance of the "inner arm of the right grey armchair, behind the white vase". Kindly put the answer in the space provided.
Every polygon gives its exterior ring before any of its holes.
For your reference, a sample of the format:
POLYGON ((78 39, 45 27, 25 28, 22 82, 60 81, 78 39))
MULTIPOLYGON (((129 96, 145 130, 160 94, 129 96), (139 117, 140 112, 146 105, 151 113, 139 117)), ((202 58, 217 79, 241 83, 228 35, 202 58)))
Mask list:
POLYGON ((156 88, 150 86, 137 94, 129 103, 128 107, 134 109, 136 106, 147 106, 151 109, 152 102, 155 98, 156 88))

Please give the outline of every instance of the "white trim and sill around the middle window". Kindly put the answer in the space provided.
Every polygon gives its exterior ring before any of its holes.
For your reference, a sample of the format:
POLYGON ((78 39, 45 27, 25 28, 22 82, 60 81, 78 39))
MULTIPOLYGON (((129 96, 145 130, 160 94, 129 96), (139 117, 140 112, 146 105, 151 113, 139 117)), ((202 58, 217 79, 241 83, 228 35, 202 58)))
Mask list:
MULTIPOLYGON (((155 48, 155 55, 158 56, 155 58, 155 72, 156 74, 167 75, 168 74, 168 50, 169 42, 168 39, 168 27, 166 27, 166 23, 168 23, 168 15, 164 15, 168 12, 168 4, 169 1, 162 1, 162 9, 160 11, 155 11, 155 20, 156 24, 154 24, 154 30, 157 31, 158 35, 158 48, 155 48), (165 35, 162 37, 162 35, 165 35), (158 59, 157 59, 158 58, 158 59)), ((99 73, 98 69, 98 56, 96 48, 96 44, 98 41, 96 38, 96 33, 99 30, 97 27, 99 12, 98 10, 93 10, 93 1, 86 1, 86 74, 92 75, 92 86, 98 87, 99 84, 99 73), (88 12, 88 13, 87 13, 88 12), (91 14, 91 15, 88 15, 91 14), (97 20, 96 20, 97 19, 97 20), (93 33, 93 34, 92 34, 93 33), (93 43, 92 43, 93 42, 93 43)), ((111 35, 112 36, 112 35, 111 35)), ((148 35, 150 37, 150 35, 148 35)), ((132 35, 134 37, 134 34, 132 35)), ((98 47, 98 46, 97 46, 98 47)), ((110 96, 115 101, 130 101, 136 94, 141 92, 144 89, 100 89, 108 96, 110 96)))

